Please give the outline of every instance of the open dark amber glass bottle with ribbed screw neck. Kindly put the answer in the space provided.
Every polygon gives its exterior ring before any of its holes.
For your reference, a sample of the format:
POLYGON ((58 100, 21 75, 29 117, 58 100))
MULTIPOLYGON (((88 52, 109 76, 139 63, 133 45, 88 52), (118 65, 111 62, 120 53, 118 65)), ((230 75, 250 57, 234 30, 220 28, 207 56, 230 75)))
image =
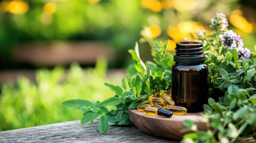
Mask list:
POLYGON ((208 100, 208 68, 200 42, 176 43, 172 66, 172 98, 187 112, 203 111, 208 100))

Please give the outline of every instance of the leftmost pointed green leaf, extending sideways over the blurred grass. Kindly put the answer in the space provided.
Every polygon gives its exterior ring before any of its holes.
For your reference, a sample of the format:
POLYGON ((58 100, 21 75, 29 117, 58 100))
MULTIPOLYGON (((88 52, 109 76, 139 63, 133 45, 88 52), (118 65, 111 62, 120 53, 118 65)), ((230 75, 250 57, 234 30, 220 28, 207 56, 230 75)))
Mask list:
POLYGON ((63 105, 83 110, 85 107, 93 105, 92 102, 87 100, 67 100, 62 103, 63 105))

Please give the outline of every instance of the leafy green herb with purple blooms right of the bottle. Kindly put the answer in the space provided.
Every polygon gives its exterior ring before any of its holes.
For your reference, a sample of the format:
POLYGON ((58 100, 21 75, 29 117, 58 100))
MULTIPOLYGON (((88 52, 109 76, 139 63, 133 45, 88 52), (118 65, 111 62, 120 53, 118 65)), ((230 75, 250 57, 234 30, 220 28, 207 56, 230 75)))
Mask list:
POLYGON ((217 13, 214 18, 216 20, 212 23, 214 26, 210 26, 215 27, 212 33, 208 36, 199 35, 197 38, 205 43, 205 50, 208 50, 206 53, 208 59, 205 63, 209 69, 211 98, 208 100, 208 105, 204 105, 205 114, 202 116, 206 121, 207 130, 198 130, 195 123, 185 120, 184 125, 187 129, 183 131, 195 132, 184 135, 181 142, 243 142, 246 136, 255 135, 255 54, 252 53, 246 60, 239 57, 239 52, 241 55, 244 51, 239 51, 242 47, 238 46, 241 45, 242 40, 236 34, 230 35, 229 39, 232 43, 239 44, 232 48, 226 47, 231 43, 225 43, 223 35, 229 35, 232 31, 228 31, 227 27, 224 27, 224 30, 217 30, 216 27, 221 21, 227 26, 226 16, 217 13), (234 35, 236 38, 233 37, 234 35))

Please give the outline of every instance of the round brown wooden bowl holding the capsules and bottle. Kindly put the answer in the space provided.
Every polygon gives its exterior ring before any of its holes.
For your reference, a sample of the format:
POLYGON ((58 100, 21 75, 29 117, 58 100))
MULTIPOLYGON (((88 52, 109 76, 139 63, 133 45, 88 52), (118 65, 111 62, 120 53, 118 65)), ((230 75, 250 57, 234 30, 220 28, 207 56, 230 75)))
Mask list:
POLYGON ((202 113, 173 114, 169 118, 161 115, 149 116, 141 111, 129 109, 129 116, 137 128, 153 136, 178 140, 181 140, 185 134, 180 133, 181 129, 186 128, 183 120, 192 120, 199 130, 206 130, 205 122, 202 121, 200 114, 202 113))

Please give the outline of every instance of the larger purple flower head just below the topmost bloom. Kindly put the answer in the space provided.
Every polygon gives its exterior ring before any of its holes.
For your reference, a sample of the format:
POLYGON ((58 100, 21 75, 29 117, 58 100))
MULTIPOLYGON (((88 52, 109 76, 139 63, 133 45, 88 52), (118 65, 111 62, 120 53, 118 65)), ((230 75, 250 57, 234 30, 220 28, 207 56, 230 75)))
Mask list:
POLYGON ((241 39, 240 35, 237 35, 232 30, 223 33, 222 36, 222 44, 228 49, 231 48, 242 48, 243 47, 243 39, 241 39))

